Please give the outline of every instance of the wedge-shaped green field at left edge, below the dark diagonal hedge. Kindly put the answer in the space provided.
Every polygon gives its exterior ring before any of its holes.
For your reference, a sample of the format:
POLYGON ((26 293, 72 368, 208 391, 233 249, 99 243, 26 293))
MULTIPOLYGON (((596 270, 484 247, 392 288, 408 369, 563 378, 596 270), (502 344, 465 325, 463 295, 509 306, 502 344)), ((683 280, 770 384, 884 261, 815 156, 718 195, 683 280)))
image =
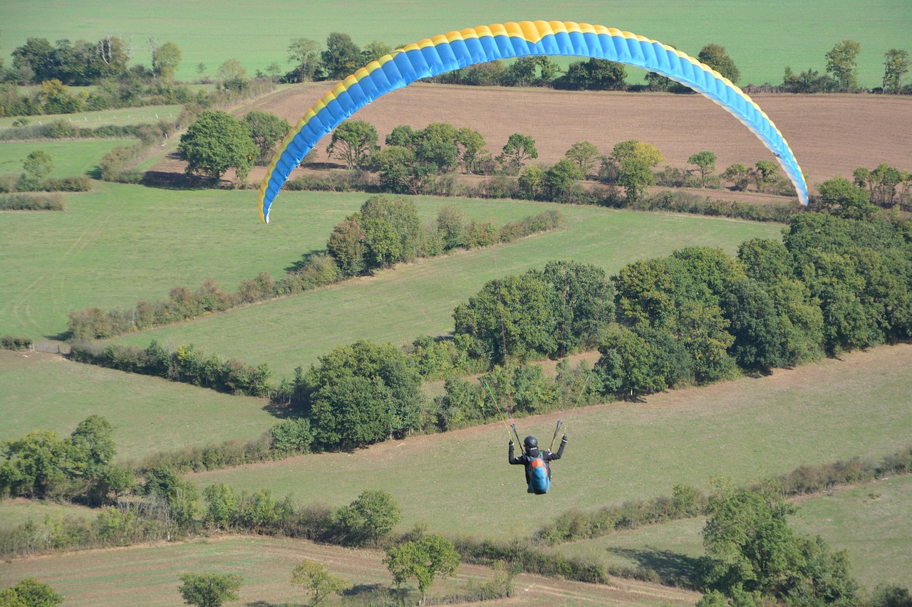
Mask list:
POLYGON ((119 461, 188 445, 260 436, 277 421, 265 401, 156 377, 0 350, 0 440, 38 428, 68 436, 90 415, 114 426, 119 461))

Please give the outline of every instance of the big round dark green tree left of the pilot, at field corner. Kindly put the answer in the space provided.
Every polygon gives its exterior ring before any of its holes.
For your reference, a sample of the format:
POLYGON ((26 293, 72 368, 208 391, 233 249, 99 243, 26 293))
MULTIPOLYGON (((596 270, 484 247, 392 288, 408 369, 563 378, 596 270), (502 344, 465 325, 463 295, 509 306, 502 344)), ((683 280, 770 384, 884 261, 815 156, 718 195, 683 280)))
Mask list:
POLYGON ((306 377, 309 416, 322 448, 356 448, 418 426, 421 379, 393 345, 338 346, 306 377))

